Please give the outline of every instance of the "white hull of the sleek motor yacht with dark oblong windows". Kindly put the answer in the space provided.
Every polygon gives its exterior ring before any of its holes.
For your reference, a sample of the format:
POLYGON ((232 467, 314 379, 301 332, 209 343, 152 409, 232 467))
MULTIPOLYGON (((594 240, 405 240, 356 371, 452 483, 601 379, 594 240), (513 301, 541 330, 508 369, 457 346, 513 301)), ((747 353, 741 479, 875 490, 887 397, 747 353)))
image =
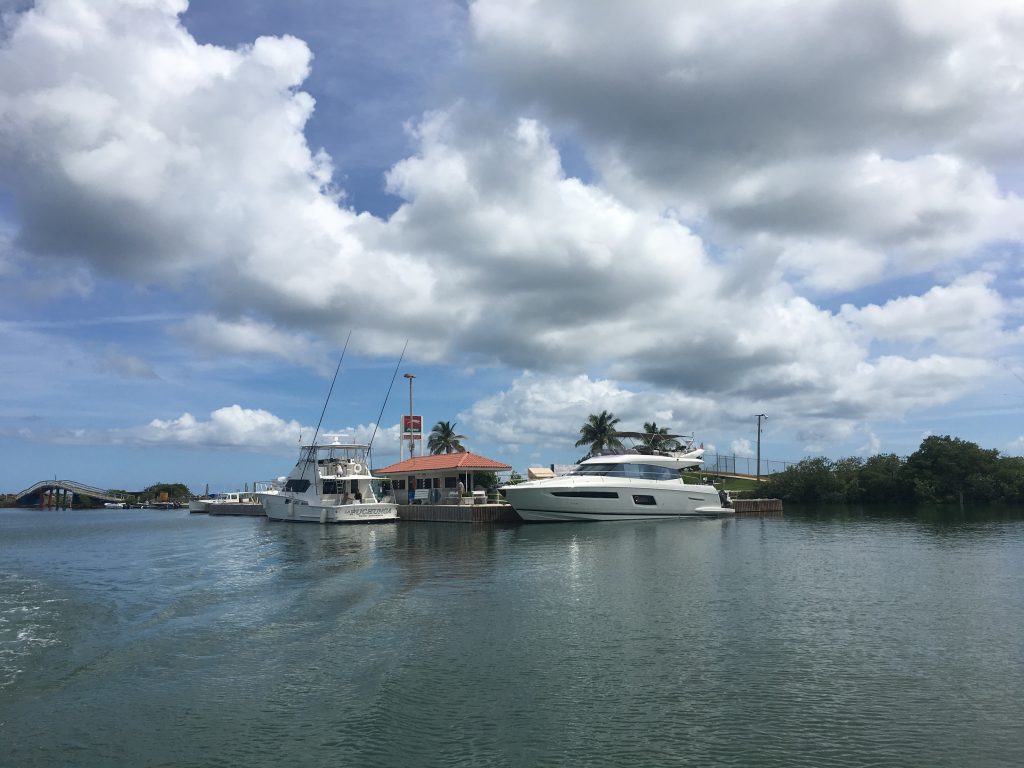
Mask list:
POLYGON ((726 517, 712 486, 679 482, 599 478, 552 478, 504 488, 512 508, 528 522, 602 520, 664 520, 684 517, 726 517), (595 481, 598 480, 598 481, 595 481))

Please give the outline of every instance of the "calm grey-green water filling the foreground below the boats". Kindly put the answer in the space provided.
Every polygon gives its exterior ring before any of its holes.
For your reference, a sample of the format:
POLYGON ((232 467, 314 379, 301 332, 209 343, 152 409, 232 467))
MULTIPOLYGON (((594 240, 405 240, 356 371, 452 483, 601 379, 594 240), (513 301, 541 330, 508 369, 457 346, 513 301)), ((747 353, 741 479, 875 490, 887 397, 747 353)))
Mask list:
POLYGON ((0 764, 1024 765, 1024 516, 0 510, 0 764))

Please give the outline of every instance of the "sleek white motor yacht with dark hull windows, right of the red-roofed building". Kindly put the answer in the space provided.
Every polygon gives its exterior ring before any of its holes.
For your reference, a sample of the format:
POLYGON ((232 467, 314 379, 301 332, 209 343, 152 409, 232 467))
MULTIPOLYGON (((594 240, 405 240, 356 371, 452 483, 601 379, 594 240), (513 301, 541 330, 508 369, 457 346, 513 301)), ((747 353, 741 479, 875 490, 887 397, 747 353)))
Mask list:
POLYGON ((594 456, 555 477, 502 488, 523 520, 657 520, 726 517, 729 495, 684 482, 682 471, 703 463, 703 449, 673 452, 633 449, 594 456))

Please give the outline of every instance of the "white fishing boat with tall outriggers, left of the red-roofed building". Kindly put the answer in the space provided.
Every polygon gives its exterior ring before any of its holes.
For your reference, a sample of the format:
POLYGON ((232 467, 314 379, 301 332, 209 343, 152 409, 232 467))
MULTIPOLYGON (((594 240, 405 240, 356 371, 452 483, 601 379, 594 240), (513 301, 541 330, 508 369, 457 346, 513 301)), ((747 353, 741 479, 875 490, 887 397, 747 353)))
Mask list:
POLYGON ((369 446, 358 442, 303 445, 281 489, 256 494, 271 520, 373 522, 396 520, 398 505, 370 474, 369 446))

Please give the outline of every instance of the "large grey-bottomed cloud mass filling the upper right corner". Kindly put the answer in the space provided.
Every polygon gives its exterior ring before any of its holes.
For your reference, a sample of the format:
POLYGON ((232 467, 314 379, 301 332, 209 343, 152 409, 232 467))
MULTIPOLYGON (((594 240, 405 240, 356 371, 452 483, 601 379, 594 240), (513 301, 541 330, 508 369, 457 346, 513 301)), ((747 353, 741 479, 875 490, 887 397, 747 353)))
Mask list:
POLYGON ((1021 237, 986 163, 1024 148, 1024 11, 976 11, 479 0, 472 22, 506 97, 571 126, 621 196, 827 292, 1021 237))

